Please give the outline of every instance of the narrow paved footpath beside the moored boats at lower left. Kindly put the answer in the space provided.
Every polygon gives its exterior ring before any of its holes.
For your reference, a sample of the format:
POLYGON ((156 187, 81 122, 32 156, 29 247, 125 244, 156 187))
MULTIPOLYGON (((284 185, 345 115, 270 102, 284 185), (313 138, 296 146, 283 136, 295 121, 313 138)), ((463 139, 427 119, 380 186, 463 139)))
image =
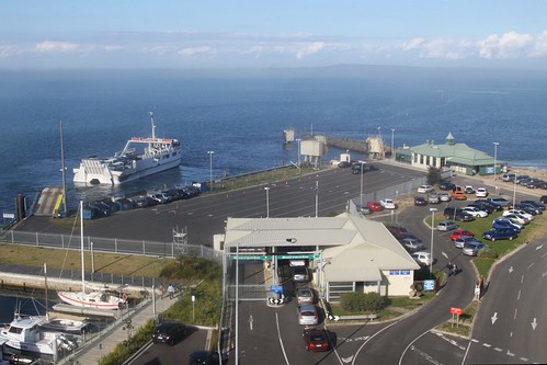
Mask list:
MULTIPOLYGON (((160 298, 160 296, 157 295, 156 313, 159 315, 166 311, 176 299, 178 296, 170 299, 167 294, 163 298, 160 298)), ((148 305, 144 306, 128 317, 128 319, 132 320, 130 323, 133 326, 133 333, 135 333, 139 327, 144 326, 151 318, 153 318, 153 306, 152 303, 149 301, 148 305)), ((80 365, 96 365, 101 356, 105 356, 111 353, 118 343, 127 340, 127 330, 124 330, 126 324, 126 320, 118 321, 114 324, 113 329, 101 335, 99 339, 94 339, 82 352, 76 354, 75 356, 68 356, 65 363, 73 361, 72 363, 80 365)))

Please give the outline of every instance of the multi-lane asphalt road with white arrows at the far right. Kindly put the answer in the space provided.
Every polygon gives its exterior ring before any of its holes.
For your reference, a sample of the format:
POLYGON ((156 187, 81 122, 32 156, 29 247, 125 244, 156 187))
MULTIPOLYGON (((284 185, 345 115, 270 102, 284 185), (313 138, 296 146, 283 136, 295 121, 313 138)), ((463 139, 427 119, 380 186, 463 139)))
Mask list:
POLYGON ((495 267, 466 363, 547 363, 546 243, 529 243, 495 267))

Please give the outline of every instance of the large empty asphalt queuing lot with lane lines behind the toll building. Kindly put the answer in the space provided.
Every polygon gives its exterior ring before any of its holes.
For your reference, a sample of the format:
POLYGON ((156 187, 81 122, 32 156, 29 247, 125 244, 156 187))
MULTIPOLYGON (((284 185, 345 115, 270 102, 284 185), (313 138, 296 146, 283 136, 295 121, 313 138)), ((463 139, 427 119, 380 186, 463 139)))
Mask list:
MULTIPOLYGON (((391 164, 378 166, 380 171, 363 175, 364 194, 424 175, 423 171, 391 164)), ((173 229, 186 228, 190 244, 212 247, 213 235, 225 231, 227 217, 266 217, 267 210, 270 217, 315 217, 316 208, 318 216, 328 216, 331 212, 343 212, 347 201, 358 197, 360 193, 361 175, 352 174, 350 169, 334 168, 273 184, 202 194, 151 208, 117 212, 110 217, 91 220, 86 227, 86 235, 172 242, 173 229), (267 199, 265 186, 270 187, 267 199)), ((16 229, 70 233, 69 228, 52 224, 47 217, 30 217, 16 229)))

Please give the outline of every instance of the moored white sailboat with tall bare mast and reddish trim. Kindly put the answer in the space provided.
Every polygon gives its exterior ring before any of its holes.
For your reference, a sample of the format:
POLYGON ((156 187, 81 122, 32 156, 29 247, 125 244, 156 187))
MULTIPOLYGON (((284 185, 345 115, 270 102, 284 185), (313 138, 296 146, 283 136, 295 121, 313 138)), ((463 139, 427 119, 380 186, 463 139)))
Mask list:
POLYGON ((119 309, 126 304, 126 298, 118 297, 105 290, 86 290, 84 259, 83 259, 83 202, 80 202, 80 251, 81 251, 81 290, 80 292, 57 292, 59 298, 75 307, 119 309))

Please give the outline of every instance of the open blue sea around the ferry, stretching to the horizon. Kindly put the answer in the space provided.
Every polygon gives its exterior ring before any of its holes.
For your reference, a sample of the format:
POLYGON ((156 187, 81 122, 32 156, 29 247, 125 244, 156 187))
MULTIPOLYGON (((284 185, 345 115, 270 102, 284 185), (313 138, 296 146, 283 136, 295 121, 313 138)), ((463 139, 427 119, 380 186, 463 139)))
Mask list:
MULTIPOLYGON (((61 185, 64 126, 68 202, 207 181, 297 160, 283 129, 386 145, 457 142, 511 166, 547 167, 547 76, 386 67, 262 71, 0 71, 0 212, 16 194, 61 185), (179 138, 183 163, 129 185, 75 186, 82 157, 109 157, 128 138, 179 138), (394 132, 391 129, 395 129, 394 132)), ((340 151, 330 149, 327 162, 340 151)), ((360 158, 357 156, 357 158, 360 158)))

